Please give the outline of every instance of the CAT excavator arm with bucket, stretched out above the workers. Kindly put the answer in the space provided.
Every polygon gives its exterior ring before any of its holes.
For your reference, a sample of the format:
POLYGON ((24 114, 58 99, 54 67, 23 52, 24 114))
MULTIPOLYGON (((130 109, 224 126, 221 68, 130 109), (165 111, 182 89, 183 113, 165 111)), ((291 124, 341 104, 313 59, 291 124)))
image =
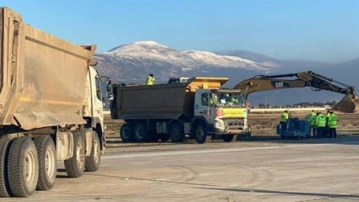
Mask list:
POLYGON ((332 107, 334 111, 344 113, 359 111, 359 101, 354 86, 343 84, 312 71, 272 76, 259 75, 240 82, 234 89, 240 89, 247 100, 248 95, 254 92, 304 87, 310 87, 313 91, 326 90, 344 94, 344 98, 332 107), (295 77, 295 79, 286 79, 288 77, 295 77))

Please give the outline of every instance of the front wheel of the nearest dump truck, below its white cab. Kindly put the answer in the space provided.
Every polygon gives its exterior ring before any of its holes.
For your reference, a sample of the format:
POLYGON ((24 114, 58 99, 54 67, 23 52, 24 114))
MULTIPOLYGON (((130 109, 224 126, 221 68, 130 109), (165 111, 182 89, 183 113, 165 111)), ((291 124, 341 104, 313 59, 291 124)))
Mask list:
POLYGON ((94 172, 100 167, 101 161, 101 143, 98 138, 98 134, 94 131, 94 140, 92 144, 92 150, 90 156, 86 156, 85 159, 85 170, 87 172, 94 172))

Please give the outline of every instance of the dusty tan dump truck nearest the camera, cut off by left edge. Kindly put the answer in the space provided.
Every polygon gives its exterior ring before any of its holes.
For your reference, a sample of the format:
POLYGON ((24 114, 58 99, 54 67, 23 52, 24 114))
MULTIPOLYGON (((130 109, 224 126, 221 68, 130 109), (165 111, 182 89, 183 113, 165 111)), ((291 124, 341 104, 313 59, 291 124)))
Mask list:
POLYGON ((95 46, 78 46, 0 7, 0 197, 49 190, 96 171, 105 147, 95 46), (92 66, 91 66, 92 65, 92 66))

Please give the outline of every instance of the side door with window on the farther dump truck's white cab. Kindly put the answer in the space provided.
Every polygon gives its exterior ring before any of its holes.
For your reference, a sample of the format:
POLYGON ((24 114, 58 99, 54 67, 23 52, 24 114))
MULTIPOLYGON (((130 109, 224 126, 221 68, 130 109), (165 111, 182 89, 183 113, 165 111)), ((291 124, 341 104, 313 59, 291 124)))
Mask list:
POLYGON ((215 107, 212 93, 200 93, 197 95, 194 114, 203 116, 208 124, 214 123, 215 107))

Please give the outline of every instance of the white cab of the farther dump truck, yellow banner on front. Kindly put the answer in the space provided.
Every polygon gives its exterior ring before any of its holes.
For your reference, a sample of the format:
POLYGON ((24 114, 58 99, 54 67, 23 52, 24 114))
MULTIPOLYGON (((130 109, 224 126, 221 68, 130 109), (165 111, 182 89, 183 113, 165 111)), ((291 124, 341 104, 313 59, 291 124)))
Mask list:
POLYGON ((199 89, 194 119, 202 119, 213 135, 238 135, 247 129, 247 110, 240 90, 199 89))

